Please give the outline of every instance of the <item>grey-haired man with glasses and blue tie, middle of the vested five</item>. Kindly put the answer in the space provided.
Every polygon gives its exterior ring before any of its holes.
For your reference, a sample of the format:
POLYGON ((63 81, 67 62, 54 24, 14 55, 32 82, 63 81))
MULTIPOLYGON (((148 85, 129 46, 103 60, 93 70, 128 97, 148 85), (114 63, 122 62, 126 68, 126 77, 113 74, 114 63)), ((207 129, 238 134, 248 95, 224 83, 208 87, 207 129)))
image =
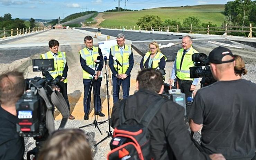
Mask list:
POLYGON ((109 53, 109 68, 112 71, 113 102, 118 101, 120 85, 122 84, 123 98, 129 96, 131 69, 134 64, 131 47, 125 45, 125 35, 117 35, 117 45, 112 46, 109 53), (117 61, 122 65, 118 65, 117 61), (117 71, 118 68, 118 71, 117 71), (118 73, 118 74, 117 74, 118 73))

